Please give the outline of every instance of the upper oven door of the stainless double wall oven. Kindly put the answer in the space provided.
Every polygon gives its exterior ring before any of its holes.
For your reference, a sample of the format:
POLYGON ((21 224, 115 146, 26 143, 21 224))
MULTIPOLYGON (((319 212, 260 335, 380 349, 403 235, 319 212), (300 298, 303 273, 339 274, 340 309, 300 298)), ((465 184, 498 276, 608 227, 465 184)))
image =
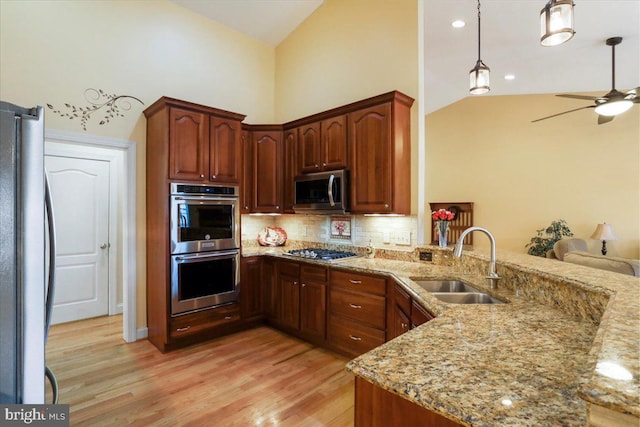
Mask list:
POLYGON ((236 198, 171 196, 171 253, 240 247, 236 198))

